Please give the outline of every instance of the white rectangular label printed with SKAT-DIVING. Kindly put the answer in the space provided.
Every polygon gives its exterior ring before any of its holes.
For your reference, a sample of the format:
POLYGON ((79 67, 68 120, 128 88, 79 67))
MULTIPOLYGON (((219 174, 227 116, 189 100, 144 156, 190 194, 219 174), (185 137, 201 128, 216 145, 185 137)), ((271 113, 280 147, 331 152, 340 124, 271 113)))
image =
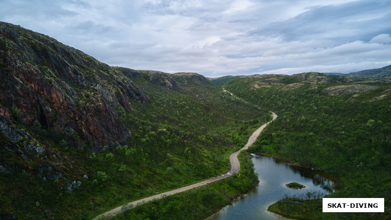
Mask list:
POLYGON ((323 212, 384 212, 384 198, 323 198, 323 212))

